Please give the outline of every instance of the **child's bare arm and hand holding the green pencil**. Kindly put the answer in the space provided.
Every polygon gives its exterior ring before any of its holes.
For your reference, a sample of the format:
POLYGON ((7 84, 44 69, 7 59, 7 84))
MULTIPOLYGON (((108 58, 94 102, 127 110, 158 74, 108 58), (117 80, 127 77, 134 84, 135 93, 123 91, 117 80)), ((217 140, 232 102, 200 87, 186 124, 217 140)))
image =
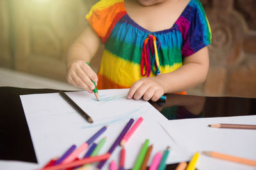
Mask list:
POLYGON ((98 77, 86 62, 90 62, 95 56, 99 46, 99 37, 90 26, 87 26, 72 43, 67 53, 67 81, 89 93, 92 93, 95 88, 92 81, 97 84, 98 77))

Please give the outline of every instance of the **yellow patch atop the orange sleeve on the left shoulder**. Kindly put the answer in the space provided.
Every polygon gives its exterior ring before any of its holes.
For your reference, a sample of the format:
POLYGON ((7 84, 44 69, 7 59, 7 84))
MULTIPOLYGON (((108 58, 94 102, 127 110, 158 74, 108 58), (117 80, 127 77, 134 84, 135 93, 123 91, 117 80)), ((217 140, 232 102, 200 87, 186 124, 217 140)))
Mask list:
POLYGON ((102 10, 104 8, 108 8, 109 6, 112 6, 113 4, 121 3, 121 2, 124 2, 124 0, 101 0, 92 6, 90 12, 86 15, 86 19, 90 18, 92 13, 95 10, 102 10))

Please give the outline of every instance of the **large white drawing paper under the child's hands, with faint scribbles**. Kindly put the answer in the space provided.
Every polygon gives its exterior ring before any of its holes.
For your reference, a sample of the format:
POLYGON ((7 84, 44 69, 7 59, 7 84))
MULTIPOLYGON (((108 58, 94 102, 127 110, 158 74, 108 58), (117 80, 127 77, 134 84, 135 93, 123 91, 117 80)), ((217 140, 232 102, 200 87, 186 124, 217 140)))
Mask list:
MULTIPOLYGON (((107 137, 106 144, 100 151, 100 154, 106 153, 130 118, 134 118, 135 122, 140 116, 143 117, 143 122, 125 145, 125 168, 132 168, 145 139, 150 139, 150 144, 154 144, 148 165, 157 151, 164 151, 167 146, 172 148, 168 164, 183 160, 185 153, 159 125, 167 121, 166 118, 148 102, 128 100, 127 92, 128 89, 100 90, 100 102, 86 91, 66 93, 92 117, 92 124, 84 120, 59 93, 20 96, 39 162, 38 167, 42 167, 51 158, 60 157, 72 144, 80 146, 104 125, 108 125, 108 129, 95 142, 107 137)), ((118 146, 103 169, 108 169, 108 164, 113 159, 118 162, 120 150, 121 147, 118 146)), ((8 169, 8 166, 4 166, 4 169, 8 169)))

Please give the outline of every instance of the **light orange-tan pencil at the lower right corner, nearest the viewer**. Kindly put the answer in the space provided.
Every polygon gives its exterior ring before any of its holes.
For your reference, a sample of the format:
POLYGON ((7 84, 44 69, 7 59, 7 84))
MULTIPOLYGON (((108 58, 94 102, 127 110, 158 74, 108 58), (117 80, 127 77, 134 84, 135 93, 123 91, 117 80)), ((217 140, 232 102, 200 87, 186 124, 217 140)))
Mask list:
POLYGON ((209 156, 209 157, 214 157, 214 158, 220 158, 223 160, 228 160, 231 162, 237 162, 239 164, 246 164, 249 166, 256 166, 256 160, 251 160, 251 159, 247 159, 247 158, 241 158, 241 157, 234 157, 231 155, 225 155, 223 153, 218 153, 215 151, 203 151, 202 153, 204 153, 205 155, 209 156))

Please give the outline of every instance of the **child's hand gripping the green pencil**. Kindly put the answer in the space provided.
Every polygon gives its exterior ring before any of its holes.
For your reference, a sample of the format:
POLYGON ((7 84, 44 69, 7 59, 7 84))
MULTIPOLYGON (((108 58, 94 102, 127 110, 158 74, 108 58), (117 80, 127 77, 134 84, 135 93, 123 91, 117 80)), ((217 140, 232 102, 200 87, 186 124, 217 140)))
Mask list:
POLYGON ((67 81, 78 88, 83 88, 89 93, 93 93, 92 90, 95 86, 92 81, 97 86, 98 76, 85 61, 78 60, 68 68, 67 81))

